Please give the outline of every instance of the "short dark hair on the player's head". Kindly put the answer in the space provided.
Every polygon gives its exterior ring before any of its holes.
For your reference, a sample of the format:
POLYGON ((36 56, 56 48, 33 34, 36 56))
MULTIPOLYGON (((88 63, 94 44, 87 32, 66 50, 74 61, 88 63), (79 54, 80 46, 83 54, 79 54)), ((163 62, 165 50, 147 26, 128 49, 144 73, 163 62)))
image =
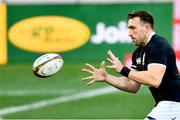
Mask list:
POLYGON ((154 29, 154 18, 150 13, 146 11, 134 11, 128 14, 128 20, 134 17, 139 17, 141 21, 149 23, 151 28, 154 29))

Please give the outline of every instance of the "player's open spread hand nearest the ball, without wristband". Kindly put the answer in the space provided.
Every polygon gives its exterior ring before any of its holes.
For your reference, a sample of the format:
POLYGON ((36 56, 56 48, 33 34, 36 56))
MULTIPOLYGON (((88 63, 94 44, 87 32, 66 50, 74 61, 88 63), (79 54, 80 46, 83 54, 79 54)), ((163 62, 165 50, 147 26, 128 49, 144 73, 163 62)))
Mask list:
POLYGON ((92 75, 89 77, 82 78, 82 80, 90 80, 90 82, 87 83, 87 85, 90 85, 94 82, 105 81, 107 72, 105 70, 105 62, 104 61, 101 63, 101 67, 99 69, 96 69, 94 66, 92 66, 91 64, 88 64, 88 63, 86 63, 86 66, 88 66, 90 69, 83 68, 82 71, 87 72, 92 75))

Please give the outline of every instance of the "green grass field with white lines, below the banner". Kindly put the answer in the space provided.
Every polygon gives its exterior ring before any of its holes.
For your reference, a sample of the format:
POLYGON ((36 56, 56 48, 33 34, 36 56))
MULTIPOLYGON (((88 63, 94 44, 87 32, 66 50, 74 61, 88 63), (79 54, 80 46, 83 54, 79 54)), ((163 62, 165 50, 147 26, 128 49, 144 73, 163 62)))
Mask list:
POLYGON ((147 87, 130 94, 105 83, 86 86, 83 66, 65 63, 45 79, 34 76, 29 63, 1 66, 0 119, 143 119, 152 109, 147 87))

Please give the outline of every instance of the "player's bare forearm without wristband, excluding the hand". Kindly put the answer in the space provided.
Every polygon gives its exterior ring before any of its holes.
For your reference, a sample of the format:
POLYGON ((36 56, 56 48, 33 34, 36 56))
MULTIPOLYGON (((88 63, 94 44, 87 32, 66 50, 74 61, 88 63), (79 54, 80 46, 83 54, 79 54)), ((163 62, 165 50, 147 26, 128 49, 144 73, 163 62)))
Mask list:
POLYGON ((139 83, 129 80, 126 77, 116 77, 110 74, 107 74, 105 81, 120 90, 132 93, 136 93, 140 87, 139 83))

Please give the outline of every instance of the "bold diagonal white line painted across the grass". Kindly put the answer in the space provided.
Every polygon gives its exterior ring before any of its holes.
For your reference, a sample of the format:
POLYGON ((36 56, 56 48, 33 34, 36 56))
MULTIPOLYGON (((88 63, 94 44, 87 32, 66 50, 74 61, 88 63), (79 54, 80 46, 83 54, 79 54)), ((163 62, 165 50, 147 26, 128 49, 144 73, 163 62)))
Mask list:
POLYGON ((109 93, 113 93, 117 91, 118 90, 113 87, 95 89, 95 90, 86 91, 86 92, 82 92, 78 94, 61 96, 54 99, 42 100, 42 101, 30 103, 30 104, 21 105, 21 106, 13 106, 13 107, 0 109, 0 115, 7 115, 7 114, 17 113, 17 112, 22 112, 22 111, 27 111, 27 110, 32 110, 32 109, 38 109, 38 108, 49 106, 49 105, 55 105, 58 103, 91 98, 91 97, 109 94, 109 93))

